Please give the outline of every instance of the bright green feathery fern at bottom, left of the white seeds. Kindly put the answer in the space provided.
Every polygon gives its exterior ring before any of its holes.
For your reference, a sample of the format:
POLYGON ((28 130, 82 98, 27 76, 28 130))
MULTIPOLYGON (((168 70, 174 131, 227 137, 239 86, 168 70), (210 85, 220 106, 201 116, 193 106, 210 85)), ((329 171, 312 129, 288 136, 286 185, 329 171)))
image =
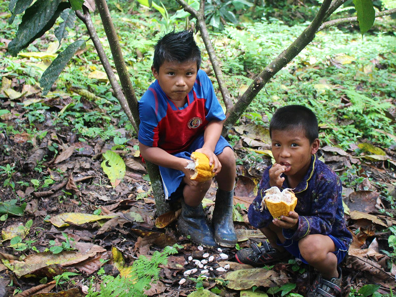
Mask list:
POLYGON ((150 283, 158 279, 160 272, 158 265, 166 265, 168 256, 178 252, 176 248, 181 248, 181 246, 174 245, 173 247, 165 247, 162 252, 155 251, 151 259, 140 256, 133 262, 132 271, 128 278, 120 275, 115 278, 111 275, 104 275, 100 284, 100 291, 93 292, 91 286, 87 297, 146 297, 144 290, 149 289, 150 283))

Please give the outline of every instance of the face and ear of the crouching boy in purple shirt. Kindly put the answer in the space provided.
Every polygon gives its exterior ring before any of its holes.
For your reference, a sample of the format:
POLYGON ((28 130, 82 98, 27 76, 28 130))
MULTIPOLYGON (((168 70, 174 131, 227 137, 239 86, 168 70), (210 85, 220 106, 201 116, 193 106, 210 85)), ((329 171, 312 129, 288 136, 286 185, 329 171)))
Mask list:
POLYGON ((308 171, 311 155, 319 149, 319 139, 309 144, 301 129, 271 131, 272 154, 275 161, 285 166, 284 174, 300 182, 308 171))

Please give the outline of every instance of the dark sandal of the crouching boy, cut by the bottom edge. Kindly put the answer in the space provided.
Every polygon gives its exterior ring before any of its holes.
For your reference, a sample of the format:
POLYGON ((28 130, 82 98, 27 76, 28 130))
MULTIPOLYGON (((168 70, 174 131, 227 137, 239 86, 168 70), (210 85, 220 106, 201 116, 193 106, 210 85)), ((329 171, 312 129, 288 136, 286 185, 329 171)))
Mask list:
POLYGON ((341 268, 337 267, 337 271, 339 274, 338 278, 333 277, 330 280, 326 280, 318 274, 316 280, 309 289, 307 297, 341 297, 341 268))

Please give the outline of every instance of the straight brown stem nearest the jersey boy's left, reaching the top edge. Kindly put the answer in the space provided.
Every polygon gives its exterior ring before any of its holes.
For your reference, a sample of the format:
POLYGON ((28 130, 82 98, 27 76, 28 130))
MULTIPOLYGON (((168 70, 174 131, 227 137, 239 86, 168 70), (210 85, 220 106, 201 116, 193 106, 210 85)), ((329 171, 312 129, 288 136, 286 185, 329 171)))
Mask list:
MULTIPOLYGON (((102 20, 104 32, 106 33, 108 44, 111 49, 111 54, 114 59, 114 65, 117 69, 120 83, 125 94, 125 98, 128 102, 129 109, 132 112, 133 118, 135 119, 136 126, 139 126, 139 109, 138 100, 135 96, 131 80, 129 79, 129 72, 125 65, 124 57, 122 55, 121 46, 118 41, 117 32, 115 31, 113 21, 110 16, 106 0, 95 0, 96 6, 98 7, 100 18, 102 20)), ((138 132, 138 130, 136 130, 138 132)))

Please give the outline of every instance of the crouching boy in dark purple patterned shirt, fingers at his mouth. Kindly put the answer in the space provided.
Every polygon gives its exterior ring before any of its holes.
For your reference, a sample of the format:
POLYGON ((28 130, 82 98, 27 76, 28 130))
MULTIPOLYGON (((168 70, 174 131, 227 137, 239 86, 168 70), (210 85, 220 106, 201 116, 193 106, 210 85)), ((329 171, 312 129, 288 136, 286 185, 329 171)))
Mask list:
POLYGON ((264 266, 291 253, 313 266, 319 274, 307 296, 341 296, 341 269, 352 236, 344 221, 338 176, 316 158, 319 149, 315 114, 301 105, 279 108, 270 122, 275 162, 263 173, 258 195, 248 209, 248 219, 267 237, 237 252, 240 263, 264 266), (295 211, 272 218, 260 211, 264 191, 290 188, 297 197, 295 211))

